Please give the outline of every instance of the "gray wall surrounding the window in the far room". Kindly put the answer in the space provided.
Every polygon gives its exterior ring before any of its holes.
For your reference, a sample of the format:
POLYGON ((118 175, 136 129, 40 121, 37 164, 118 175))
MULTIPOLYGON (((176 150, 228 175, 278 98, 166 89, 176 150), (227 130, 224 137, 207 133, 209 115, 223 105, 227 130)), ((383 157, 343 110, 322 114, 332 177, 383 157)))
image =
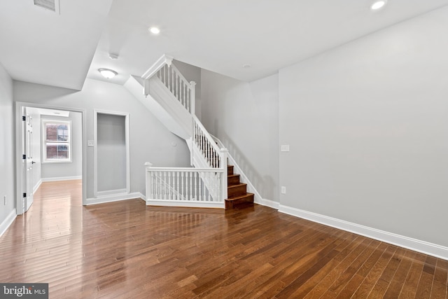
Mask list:
MULTIPOLYGON (((42 163, 42 179, 64 179, 83 175, 83 116, 71 111, 69 117, 41 116, 42 120, 71 120, 71 162, 42 163)), ((42 125, 40 125, 42 127, 42 125)), ((42 129, 41 129, 42 130, 42 129)))

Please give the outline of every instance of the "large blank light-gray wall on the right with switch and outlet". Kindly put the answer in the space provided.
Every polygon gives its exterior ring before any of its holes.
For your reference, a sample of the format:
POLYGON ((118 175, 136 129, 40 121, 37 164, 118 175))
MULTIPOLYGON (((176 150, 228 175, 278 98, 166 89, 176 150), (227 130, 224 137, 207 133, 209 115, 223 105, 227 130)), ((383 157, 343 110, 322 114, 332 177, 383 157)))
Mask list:
POLYGON ((279 72, 282 205, 448 246, 448 8, 279 72))

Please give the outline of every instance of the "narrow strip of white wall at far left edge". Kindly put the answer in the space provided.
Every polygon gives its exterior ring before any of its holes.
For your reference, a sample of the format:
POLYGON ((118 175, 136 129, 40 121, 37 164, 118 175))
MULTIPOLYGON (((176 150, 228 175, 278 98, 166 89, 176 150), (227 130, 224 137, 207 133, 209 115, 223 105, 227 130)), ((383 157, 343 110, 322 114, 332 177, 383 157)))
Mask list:
POLYGON ((13 80, 0 64, 0 235, 15 216, 13 80), (6 196, 6 204, 4 202, 6 196))

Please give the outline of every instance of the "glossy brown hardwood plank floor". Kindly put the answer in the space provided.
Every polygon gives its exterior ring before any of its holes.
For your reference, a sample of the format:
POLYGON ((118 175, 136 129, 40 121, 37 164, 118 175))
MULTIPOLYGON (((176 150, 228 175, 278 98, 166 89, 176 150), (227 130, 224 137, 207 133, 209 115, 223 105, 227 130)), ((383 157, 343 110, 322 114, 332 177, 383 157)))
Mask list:
POLYGON ((0 238, 1 282, 50 298, 447 298, 447 260, 259 205, 83 207, 80 188, 42 184, 0 238))

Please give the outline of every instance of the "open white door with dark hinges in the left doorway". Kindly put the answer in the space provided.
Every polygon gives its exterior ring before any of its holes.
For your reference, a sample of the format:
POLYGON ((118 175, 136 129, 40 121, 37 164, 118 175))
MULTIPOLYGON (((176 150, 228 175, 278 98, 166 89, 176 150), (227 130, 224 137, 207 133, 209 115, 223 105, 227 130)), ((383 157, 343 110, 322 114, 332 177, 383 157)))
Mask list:
POLYGON ((24 182, 22 186, 26 188, 23 191, 23 211, 28 211, 31 204, 33 204, 33 119, 27 113, 25 109, 25 116, 22 116, 23 124, 23 159, 22 159, 22 171, 24 172, 23 178, 24 182))

